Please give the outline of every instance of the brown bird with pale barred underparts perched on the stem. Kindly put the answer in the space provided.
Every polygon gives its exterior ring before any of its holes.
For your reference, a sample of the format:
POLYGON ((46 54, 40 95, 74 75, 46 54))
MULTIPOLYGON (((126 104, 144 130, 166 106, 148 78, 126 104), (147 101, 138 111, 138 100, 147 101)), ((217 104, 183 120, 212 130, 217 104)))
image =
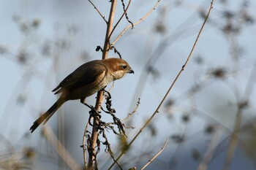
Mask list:
POLYGON ((42 123, 45 124, 64 102, 86 97, 105 88, 108 83, 121 79, 127 73, 134 73, 127 61, 120 58, 108 58, 84 63, 69 74, 53 89, 54 94, 61 93, 59 99, 47 112, 40 116, 30 128, 31 133, 42 123))

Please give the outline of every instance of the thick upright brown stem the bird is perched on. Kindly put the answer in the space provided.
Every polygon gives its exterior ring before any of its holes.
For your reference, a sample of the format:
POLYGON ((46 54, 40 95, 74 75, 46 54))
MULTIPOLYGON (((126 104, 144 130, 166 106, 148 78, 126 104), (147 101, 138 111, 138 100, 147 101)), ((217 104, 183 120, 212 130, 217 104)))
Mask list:
MULTIPOLYGON (((113 20, 114 20, 114 15, 116 12, 116 3, 117 0, 112 0, 111 2, 111 7, 110 7, 110 15, 108 18, 108 25, 107 25, 107 31, 106 31, 106 36, 105 36, 105 43, 104 43, 104 47, 103 47, 103 52, 102 52, 102 59, 108 58, 108 50, 110 48, 110 34, 111 31, 113 30, 113 20)), ((103 91, 100 90, 97 93, 97 101, 95 104, 95 109, 97 109, 97 111, 100 111, 100 106, 101 106, 101 98, 103 96, 103 91)), ((97 119, 94 118, 94 123, 93 123, 93 127, 92 127, 92 133, 91 133, 91 141, 90 141, 90 148, 89 148, 89 161, 88 161, 88 168, 90 170, 95 169, 97 165, 95 165, 96 163, 96 154, 97 152, 95 152, 95 148, 97 147, 97 139, 98 139, 98 125, 99 125, 99 121, 97 119)))

